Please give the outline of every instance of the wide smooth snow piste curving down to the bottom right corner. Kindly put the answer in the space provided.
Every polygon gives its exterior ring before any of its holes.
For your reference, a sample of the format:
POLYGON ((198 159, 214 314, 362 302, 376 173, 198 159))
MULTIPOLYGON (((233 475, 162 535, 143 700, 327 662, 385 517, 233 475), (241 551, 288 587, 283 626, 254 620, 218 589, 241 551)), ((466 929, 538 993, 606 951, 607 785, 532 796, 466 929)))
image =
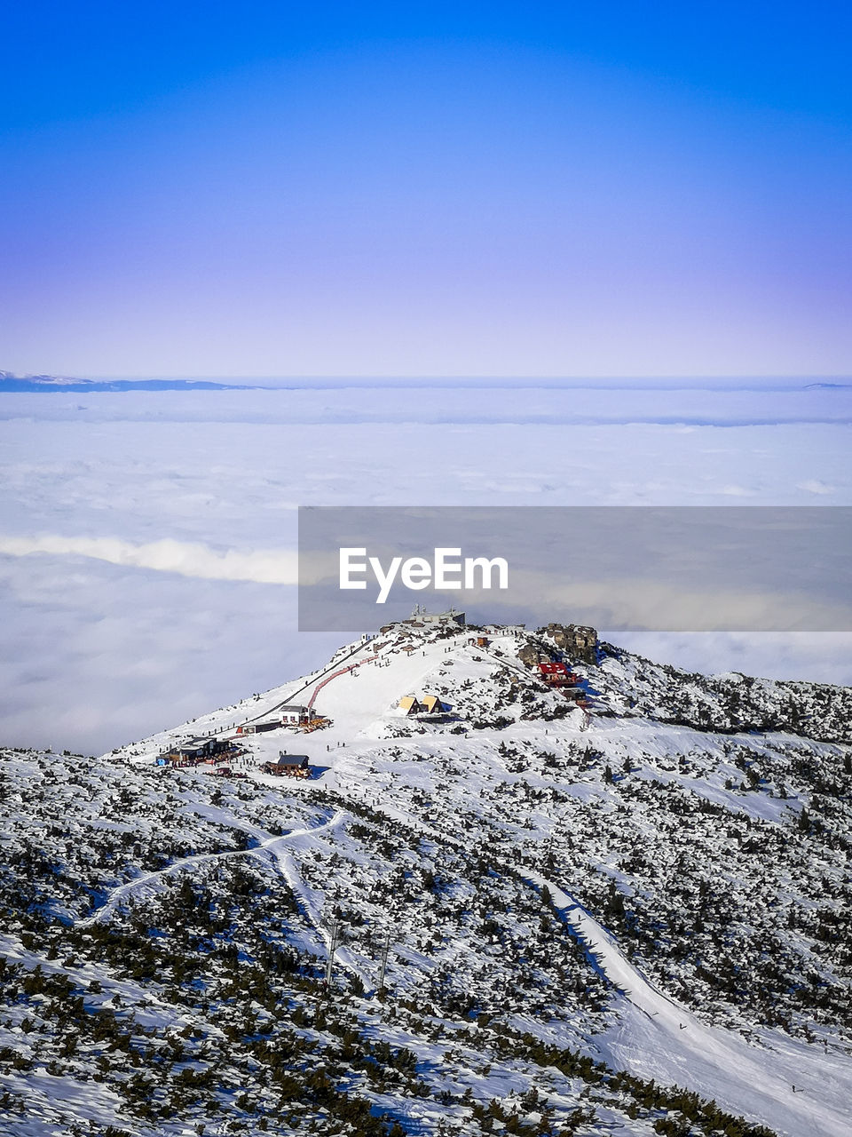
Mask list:
POLYGON ((693 1089, 790 1137, 849 1137, 847 1057, 829 1056, 777 1034, 772 1038, 778 1048, 758 1048, 734 1031, 704 1026, 650 984, 573 896, 537 873, 524 875, 550 890, 557 908, 624 995, 619 1026, 599 1039, 611 1064, 693 1089))

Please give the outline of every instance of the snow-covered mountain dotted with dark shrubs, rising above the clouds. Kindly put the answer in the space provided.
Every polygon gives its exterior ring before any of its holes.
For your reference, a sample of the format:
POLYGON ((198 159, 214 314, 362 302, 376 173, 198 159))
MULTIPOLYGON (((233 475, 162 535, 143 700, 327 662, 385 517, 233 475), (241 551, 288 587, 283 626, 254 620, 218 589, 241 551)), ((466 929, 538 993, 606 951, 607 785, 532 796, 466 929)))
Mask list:
POLYGON ((411 620, 5 752, 3 1131, 845 1137, 852 691, 565 642, 411 620))

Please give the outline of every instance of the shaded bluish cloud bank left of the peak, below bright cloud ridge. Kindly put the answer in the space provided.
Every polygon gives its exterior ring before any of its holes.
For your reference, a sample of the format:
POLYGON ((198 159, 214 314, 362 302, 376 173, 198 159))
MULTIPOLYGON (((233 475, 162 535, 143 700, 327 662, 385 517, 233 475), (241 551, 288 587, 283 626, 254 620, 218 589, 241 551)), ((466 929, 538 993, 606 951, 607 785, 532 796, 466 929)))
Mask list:
POLYGON ((102 753, 314 670, 295 590, 0 557, 0 744, 102 753))

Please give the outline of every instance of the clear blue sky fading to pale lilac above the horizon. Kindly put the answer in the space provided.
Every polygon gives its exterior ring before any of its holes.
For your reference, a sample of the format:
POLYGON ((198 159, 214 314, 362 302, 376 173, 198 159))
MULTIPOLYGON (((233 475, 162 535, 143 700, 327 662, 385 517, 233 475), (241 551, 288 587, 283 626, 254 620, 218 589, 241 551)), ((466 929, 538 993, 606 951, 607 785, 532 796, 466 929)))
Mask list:
POLYGON ((0 367, 849 374, 846 6, 10 9, 0 367))

